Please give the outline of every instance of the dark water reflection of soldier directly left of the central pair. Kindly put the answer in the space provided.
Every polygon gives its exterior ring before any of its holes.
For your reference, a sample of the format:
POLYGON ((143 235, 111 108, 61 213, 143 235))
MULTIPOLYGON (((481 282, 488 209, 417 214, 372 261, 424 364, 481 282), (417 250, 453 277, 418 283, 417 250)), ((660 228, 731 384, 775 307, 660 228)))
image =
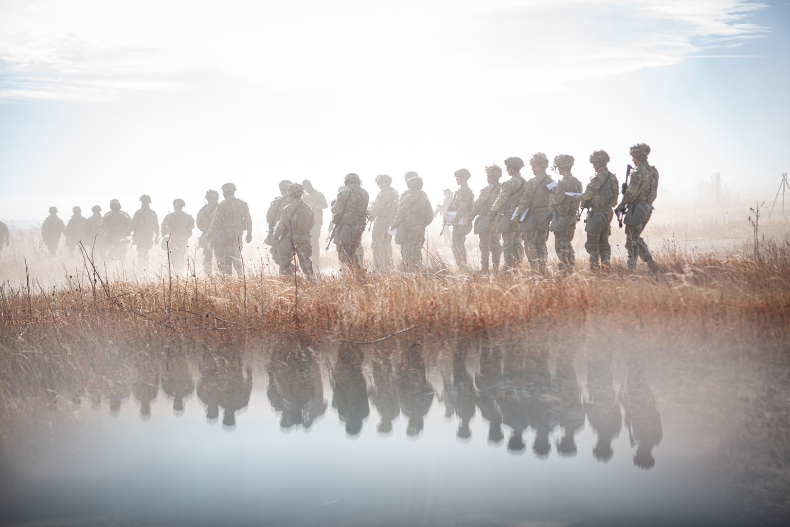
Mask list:
POLYGON ((332 406, 345 422, 348 435, 362 431, 362 422, 371 413, 367 401, 367 384, 362 373, 363 352, 356 344, 340 344, 337 361, 330 371, 332 406))

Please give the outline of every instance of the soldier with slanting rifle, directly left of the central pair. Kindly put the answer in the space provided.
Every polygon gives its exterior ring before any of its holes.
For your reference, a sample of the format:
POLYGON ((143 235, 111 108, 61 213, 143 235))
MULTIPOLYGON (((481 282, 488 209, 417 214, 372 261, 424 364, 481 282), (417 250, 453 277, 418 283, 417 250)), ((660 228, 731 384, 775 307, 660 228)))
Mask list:
POLYGON ((362 233, 367 222, 367 203, 370 198, 367 190, 362 188, 359 175, 349 173, 345 176, 346 188, 337 194, 337 199, 332 205, 332 213, 338 216, 335 244, 341 264, 359 267, 356 250, 362 241, 362 233))

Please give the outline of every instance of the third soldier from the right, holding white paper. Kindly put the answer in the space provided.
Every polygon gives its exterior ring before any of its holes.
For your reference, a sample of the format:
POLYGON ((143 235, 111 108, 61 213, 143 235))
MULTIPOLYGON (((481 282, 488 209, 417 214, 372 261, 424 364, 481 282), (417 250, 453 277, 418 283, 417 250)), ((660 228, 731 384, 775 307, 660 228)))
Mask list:
POLYGON ((577 216, 579 209, 579 196, 581 196, 581 182, 574 178, 570 169, 574 166, 574 156, 560 154, 554 158, 554 168, 562 175, 557 186, 554 187, 549 202, 554 211, 551 220, 551 232, 554 232, 554 250, 559 258, 559 270, 573 271, 576 263, 574 247, 570 242, 576 232, 577 216), (577 195, 575 195, 577 194, 577 195))

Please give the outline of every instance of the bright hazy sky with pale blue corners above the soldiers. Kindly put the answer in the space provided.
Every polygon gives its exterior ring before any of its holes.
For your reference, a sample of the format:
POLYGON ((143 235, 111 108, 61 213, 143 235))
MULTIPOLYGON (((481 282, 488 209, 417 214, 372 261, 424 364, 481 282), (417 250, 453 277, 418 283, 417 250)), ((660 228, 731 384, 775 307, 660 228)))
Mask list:
MULTIPOLYGON (((790 168, 790 2, 0 0, 0 219, 141 194, 196 213, 232 182, 423 176, 648 143, 659 200, 770 189, 790 168)), ((258 222, 260 225, 260 222, 258 222)), ((261 227, 262 228, 262 227, 261 227)))

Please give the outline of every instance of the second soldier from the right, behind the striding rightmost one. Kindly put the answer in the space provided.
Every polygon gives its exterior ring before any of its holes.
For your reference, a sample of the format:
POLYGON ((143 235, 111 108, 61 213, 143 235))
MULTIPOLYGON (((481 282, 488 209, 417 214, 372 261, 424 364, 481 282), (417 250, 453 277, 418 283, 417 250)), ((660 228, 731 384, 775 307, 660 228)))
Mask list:
POLYGON ((619 183, 617 178, 606 167, 609 154, 604 150, 596 150, 590 154, 590 163, 596 174, 587 183, 587 189, 581 194, 581 207, 589 209, 585 231, 587 243, 585 249, 590 255, 590 270, 595 271, 598 265, 609 267, 611 260, 611 218, 614 216, 612 207, 617 205, 619 183))

